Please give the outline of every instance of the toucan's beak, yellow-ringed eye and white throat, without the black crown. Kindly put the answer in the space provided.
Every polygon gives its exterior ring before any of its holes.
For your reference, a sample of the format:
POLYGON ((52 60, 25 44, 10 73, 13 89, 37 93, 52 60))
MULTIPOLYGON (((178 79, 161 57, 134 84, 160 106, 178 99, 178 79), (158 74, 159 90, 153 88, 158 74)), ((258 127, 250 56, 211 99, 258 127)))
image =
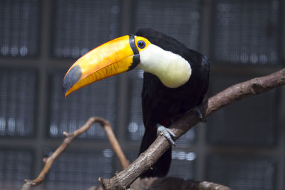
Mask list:
POLYGON ((156 75, 169 88, 183 85, 191 75, 187 60, 165 50, 163 43, 157 46, 145 37, 127 35, 104 43, 79 58, 63 78, 63 95, 137 66, 156 75))

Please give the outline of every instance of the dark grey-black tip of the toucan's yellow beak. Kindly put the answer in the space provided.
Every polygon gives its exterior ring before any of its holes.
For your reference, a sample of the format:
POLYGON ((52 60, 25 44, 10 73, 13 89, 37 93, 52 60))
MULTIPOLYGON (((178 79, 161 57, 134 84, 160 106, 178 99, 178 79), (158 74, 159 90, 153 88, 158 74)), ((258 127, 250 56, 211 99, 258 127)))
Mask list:
POLYGON ((69 89, 75 85, 78 80, 81 78, 82 71, 81 67, 79 65, 76 65, 75 67, 71 68, 68 73, 66 73, 66 77, 63 78, 63 85, 62 85, 62 90, 63 90, 63 96, 66 97, 66 93, 68 92, 69 89))

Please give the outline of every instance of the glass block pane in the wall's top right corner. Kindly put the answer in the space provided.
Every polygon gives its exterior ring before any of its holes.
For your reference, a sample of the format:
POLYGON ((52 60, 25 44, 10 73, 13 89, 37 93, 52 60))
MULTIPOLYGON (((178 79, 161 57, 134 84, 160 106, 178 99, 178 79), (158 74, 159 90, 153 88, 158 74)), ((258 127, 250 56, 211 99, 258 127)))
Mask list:
POLYGON ((279 1, 214 1, 213 12, 214 60, 278 63, 279 1))

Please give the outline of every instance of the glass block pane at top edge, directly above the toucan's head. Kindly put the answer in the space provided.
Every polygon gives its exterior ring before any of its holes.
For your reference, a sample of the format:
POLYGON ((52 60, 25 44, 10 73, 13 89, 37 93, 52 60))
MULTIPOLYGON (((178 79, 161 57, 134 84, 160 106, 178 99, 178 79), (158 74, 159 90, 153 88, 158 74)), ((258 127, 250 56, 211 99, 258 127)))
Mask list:
POLYGON ((135 30, 153 28, 199 49, 202 1, 136 1, 135 30))

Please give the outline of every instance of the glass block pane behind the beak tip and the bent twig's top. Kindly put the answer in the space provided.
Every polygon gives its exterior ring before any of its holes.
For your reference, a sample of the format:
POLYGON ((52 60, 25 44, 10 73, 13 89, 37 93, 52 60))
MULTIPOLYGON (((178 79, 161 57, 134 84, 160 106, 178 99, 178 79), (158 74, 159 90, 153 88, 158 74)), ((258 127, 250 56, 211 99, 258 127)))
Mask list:
MULTIPOLYGON (((64 131, 73 132, 93 116, 105 118, 114 127, 117 77, 100 80, 65 98, 61 92, 64 74, 62 70, 50 70, 48 135, 63 137, 64 131)), ((95 123, 79 138, 106 139, 106 135, 103 128, 95 123)))

